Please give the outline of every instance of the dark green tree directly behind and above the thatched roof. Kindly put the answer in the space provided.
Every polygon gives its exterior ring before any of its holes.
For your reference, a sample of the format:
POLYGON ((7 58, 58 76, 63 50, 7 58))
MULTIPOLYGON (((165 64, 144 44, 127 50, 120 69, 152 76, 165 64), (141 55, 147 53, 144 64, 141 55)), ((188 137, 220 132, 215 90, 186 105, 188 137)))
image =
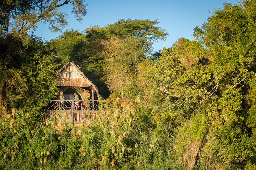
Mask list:
POLYGON ((73 61, 81 67, 82 72, 98 87, 99 93, 105 98, 110 94, 102 81, 105 58, 101 55, 104 50, 104 28, 92 26, 84 32, 66 31, 47 44, 57 53, 57 62, 65 64, 73 61))

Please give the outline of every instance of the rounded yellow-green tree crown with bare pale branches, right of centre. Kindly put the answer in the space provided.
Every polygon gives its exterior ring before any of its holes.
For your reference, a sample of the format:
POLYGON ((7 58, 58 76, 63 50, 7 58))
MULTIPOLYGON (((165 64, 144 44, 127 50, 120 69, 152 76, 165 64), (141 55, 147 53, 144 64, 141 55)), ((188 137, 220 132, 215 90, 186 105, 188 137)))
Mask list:
POLYGON ((150 85, 190 105, 197 105, 216 93, 222 77, 214 78, 225 73, 204 61, 207 53, 198 42, 179 39, 171 49, 164 48, 161 53, 159 60, 146 61, 140 66, 141 77, 150 85))

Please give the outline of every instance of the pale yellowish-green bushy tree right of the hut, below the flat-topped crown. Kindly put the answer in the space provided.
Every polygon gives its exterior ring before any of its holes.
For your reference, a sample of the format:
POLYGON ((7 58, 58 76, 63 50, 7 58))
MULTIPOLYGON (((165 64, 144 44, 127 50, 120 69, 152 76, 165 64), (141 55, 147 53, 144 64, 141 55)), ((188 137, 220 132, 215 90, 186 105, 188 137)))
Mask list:
MULTIPOLYGON (((110 91, 127 92, 127 89, 131 89, 129 87, 131 83, 136 82, 138 63, 145 58, 148 52, 143 47, 144 41, 137 37, 131 37, 124 40, 113 38, 107 43, 106 58, 108 60, 104 70, 106 74, 104 80, 107 82, 110 91)), ((133 84, 137 86, 136 83, 133 84)), ((127 95, 134 97, 138 94, 127 95)))

